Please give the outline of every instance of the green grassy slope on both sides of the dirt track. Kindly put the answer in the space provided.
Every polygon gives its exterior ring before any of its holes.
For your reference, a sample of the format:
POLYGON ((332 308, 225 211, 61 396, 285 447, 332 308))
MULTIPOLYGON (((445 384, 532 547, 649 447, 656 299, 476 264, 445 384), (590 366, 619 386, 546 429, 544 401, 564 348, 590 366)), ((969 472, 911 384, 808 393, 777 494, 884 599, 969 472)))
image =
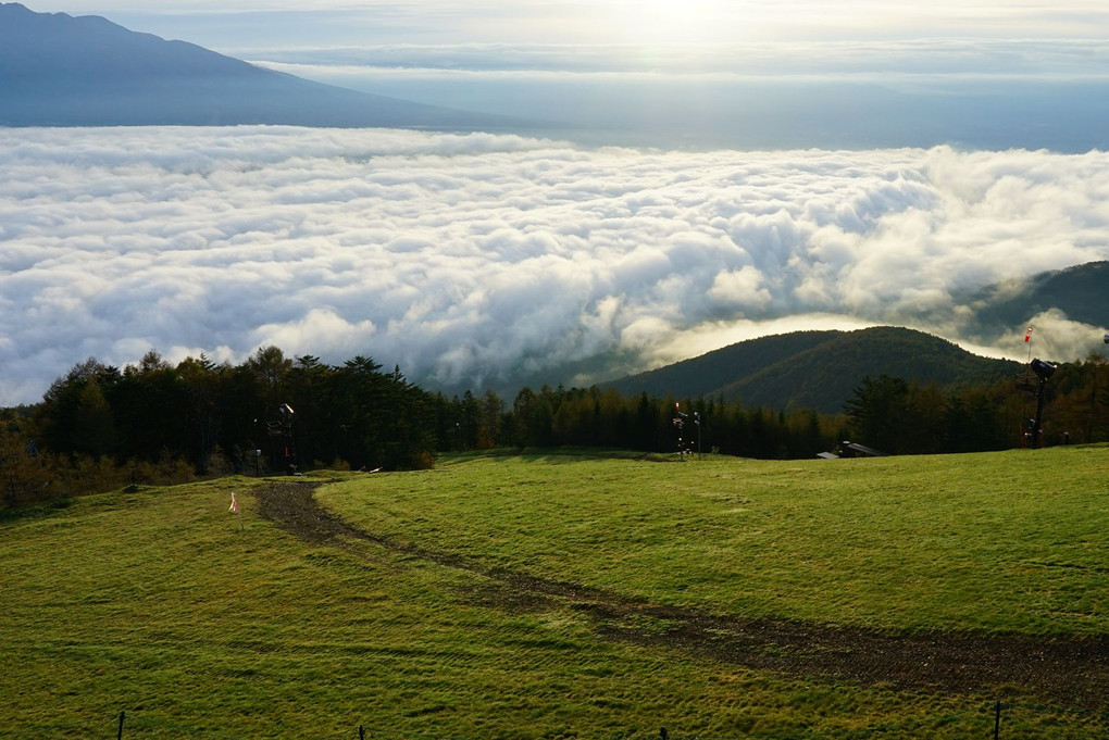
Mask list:
MULTIPOLYGON (((400 542, 706 610, 1107 628, 1103 448, 548 462, 448 461, 321 499, 400 542)), ((0 523, 0 736, 114 737, 121 709, 124 737, 144 738, 357 737, 358 723, 377 737, 658 737, 667 724, 958 738, 989 726, 986 695, 810 685, 600 640, 558 605, 506 610, 478 575, 369 543, 297 541, 256 517, 248 485, 108 494, 0 523)), ((1013 721, 1028 737, 1091 729, 1013 721)))

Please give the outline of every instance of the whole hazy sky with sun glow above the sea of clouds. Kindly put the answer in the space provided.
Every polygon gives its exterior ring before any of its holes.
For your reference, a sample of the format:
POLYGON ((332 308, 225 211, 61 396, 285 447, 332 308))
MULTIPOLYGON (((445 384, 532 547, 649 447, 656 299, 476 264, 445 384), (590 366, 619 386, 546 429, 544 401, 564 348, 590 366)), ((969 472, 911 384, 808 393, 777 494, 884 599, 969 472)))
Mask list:
POLYGON ((94 0, 68 10, 590 145, 1109 146, 1109 11, 1096 2, 94 0))

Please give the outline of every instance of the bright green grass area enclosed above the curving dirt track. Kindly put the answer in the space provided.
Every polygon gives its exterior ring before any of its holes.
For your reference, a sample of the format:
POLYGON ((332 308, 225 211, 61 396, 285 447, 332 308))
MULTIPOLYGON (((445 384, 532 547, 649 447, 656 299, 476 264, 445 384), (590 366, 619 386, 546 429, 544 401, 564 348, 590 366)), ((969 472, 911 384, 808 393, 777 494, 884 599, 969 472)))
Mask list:
POLYGON ((1105 448, 784 463, 527 460, 350 481, 321 500, 399 542, 714 614, 1109 631, 1105 448))

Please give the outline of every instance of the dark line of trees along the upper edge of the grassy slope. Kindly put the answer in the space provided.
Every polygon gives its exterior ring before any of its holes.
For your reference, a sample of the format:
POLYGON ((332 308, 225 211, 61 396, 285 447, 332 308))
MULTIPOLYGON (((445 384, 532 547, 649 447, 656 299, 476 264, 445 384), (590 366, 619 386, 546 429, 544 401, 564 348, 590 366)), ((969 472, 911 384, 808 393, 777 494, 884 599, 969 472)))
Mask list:
MULTIPOLYGON (((1103 357, 1059 367, 1044 442, 1109 439, 1103 357)), ((262 347, 240 364, 157 352, 122 369, 94 358, 33 407, 0 415, 3 501, 131 484, 307 469, 413 470, 438 453, 599 446, 803 459, 851 439, 894 454, 973 452, 1026 442, 1035 399, 1015 383, 943 389, 864 378, 841 414, 745 408, 716 398, 623 395, 592 388, 446 397, 368 357, 327 364, 262 347)))

